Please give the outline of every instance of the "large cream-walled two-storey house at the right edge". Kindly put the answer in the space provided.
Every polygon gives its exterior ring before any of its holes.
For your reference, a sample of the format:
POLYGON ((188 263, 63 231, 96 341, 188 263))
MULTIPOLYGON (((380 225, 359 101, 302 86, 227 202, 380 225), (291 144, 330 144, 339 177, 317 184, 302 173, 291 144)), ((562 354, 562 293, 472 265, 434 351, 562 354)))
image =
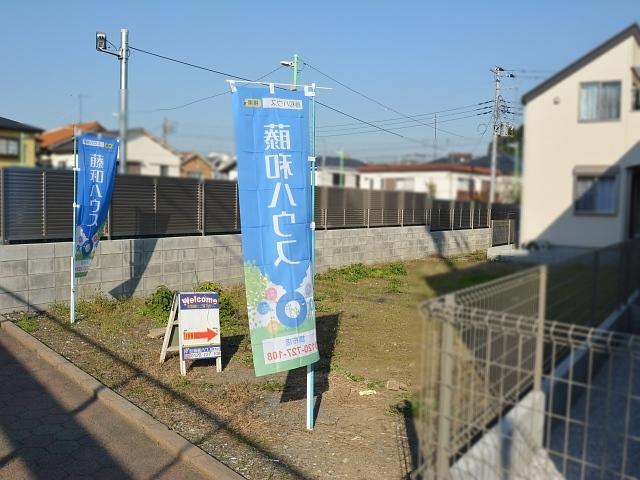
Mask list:
POLYGON ((640 236, 639 91, 634 24, 524 95, 522 242, 640 236))

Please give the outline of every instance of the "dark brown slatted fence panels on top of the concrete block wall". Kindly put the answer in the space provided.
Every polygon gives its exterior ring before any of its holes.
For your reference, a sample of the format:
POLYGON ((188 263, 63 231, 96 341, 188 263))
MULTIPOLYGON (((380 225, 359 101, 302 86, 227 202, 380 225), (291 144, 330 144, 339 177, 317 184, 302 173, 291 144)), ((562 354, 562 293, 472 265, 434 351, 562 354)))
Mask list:
MULTIPOLYGON (((70 239, 73 177, 63 170, 0 169, 0 243, 70 239)), ((430 199, 414 192, 316 188, 318 229, 427 225, 486 228, 517 216, 513 205, 430 199)), ((130 238, 240 231, 237 184, 226 180, 118 175, 105 235, 130 238)))

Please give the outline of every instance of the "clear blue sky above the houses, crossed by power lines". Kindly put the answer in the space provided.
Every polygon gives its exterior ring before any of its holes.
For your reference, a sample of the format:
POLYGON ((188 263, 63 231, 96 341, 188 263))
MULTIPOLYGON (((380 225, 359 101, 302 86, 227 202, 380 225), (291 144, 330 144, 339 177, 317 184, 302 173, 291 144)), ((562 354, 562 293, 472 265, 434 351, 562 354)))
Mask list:
MULTIPOLYGON (((134 47, 251 78, 273 70, 295 52, 379 102, 417 115, 492 99, 489 69, 496 64, 528 71, 504 82, 505 98, 519 102, 543 77, 638 21, 640 14, 637 0, 85 0, 6 2, 2 17, 0 116, 42 128, 61 126, 77 121, 81 94, 84 121, 95 119, 116 128, 118 62, 96 52, 96 31, 107 32, 119 45, 119 30, 126 27, 134 47)), ((269 78, 290 81, 291 70, 283 68, 269 78)), ((229 95, 157 111, 224 91, 224 79, 133 51, 129 124, 160 135, 166 116, 175 127, 169 141, 177 149, 233 151, 229 95)), ((300 81, 334 87, 320 95, 321 101, 361 119, 398 117, 309 67, 300 81)), ((489 133, 482 132, 488 119, 476 116, 441 124, 456 135, 438 132, 437 153, 485 152, 489 133)), ((319 107, 319 153, 345 149, 368 161, 393 161, 411 152, 434 154, 433 129, 422 125, 397 132, 426 144, 382 132, 322 136, 323 126, 351 122, 319 107)), ((342 133, 347 132, 353 130, 342 133)))

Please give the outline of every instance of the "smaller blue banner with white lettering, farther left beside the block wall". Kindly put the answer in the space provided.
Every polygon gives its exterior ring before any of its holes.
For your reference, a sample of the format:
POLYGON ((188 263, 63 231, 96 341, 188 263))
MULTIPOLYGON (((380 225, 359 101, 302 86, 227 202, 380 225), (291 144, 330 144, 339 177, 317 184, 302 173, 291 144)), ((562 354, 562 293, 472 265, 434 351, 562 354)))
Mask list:
POLYGON ((104 135, 78 136, 76 204, 76 277, 87 275, 102 236, 116 178, 118 140, 104 135))

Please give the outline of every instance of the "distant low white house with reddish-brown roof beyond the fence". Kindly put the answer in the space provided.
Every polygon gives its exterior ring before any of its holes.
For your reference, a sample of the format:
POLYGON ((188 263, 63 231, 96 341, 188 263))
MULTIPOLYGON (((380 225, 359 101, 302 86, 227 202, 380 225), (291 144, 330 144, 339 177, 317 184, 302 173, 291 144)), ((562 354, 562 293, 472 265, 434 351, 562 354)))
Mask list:
MULTIPOLYGON (((486 199, 491 170, 468 163, 370 164, 358 169, 360 188, 428 193, 441 200, 486 199)), ((506 200, 511 177, 498 172, 498 201, 506 200)))

